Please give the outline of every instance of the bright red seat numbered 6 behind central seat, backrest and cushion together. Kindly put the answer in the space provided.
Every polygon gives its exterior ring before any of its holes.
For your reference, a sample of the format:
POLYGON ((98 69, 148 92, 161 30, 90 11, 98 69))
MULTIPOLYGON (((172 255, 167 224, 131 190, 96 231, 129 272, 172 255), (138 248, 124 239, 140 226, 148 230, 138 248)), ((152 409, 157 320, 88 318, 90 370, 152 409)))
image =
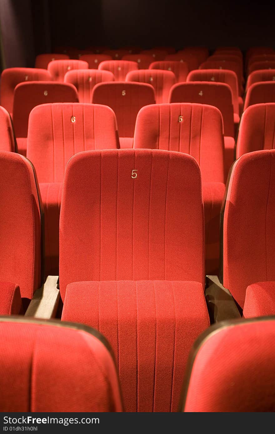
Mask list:
POLYGON ((116 118, 109 107, 43 104, 30 113, 27 158, 36 168, 45 210, 46 275, 58 275, 59 213, 67 161, 77 152, 118 146, 116 118))

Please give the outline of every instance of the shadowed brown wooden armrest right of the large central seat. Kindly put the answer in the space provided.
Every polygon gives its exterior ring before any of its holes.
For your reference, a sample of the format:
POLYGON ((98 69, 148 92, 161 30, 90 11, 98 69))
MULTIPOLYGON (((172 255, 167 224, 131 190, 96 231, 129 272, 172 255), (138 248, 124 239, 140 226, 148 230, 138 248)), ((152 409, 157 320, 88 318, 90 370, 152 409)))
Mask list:
POLYGON ((227 319, 242 318, 239 309, 218 276, 206 276, 205 299, 211 324, 227 319))

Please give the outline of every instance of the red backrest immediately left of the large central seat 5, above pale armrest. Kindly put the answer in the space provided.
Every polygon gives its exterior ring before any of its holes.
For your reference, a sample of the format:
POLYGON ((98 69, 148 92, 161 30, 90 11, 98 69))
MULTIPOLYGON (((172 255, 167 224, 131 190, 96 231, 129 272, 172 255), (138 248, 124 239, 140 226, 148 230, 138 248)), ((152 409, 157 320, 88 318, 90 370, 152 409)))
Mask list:
POLYGON ((0 282, 20 286, 32 299, 40 286, 40 205, 33 167, 15 152, 0 151, 0 282))

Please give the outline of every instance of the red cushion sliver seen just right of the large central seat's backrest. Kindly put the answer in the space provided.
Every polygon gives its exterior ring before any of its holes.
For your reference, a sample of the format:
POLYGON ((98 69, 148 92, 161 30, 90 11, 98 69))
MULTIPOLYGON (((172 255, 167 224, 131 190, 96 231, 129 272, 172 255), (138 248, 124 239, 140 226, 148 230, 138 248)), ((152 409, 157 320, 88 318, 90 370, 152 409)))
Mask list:
POLYGON ((205 274, 219 273, 220 212, 225 184, 203 182, 202 197, 205 222, 205 274))

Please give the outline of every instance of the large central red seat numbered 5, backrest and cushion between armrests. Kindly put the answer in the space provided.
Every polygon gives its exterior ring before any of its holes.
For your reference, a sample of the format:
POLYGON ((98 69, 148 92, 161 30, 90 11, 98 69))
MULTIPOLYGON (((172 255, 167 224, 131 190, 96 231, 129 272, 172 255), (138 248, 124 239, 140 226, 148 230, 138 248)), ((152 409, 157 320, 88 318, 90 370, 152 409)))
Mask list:
POLYGON ((91 151, 67 164, 62 319, 105 333, 126 411, 178 407, 190 346, 209 325, 203 233, 201 175, 190 155, 91 151))

